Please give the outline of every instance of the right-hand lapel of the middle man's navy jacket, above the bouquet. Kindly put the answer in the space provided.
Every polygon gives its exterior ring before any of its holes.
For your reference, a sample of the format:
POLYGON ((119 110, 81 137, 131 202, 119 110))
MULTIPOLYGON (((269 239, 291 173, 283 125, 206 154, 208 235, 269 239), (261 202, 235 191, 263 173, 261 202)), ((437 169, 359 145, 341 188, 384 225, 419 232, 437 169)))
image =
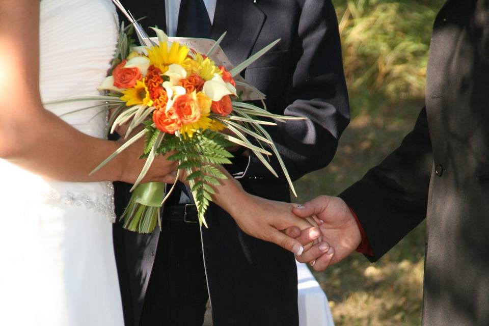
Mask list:
POLYGON ((227 32, 221 47, 237 65, 251 55, 265 18, 252 0, 217 0, 211 38, 216 40, 227 32))

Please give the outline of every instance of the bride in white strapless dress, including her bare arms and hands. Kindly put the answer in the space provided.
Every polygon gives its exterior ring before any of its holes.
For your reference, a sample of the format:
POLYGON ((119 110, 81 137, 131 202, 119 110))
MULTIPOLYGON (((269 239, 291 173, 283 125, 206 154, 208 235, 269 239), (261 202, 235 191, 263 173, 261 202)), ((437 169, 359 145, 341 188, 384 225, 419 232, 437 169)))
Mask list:
MULTIPOLYGON (((115 8, 110 0, 2 0, 0 15, 0 324, 121 326, 108 181, 137 179, 142 144, 89 176, 120 145, 105 140, 106 116, 65 115, 87 102, 42 105, 98 94, 116 48, 115 8)), ((175 168, 158 157, 144 182, 173 182, 175 168)), ((249 196, 232 178, 224 186, 214 200, 245 232, 302 252, 277 230, 310 226, 290 204, 249 196)))

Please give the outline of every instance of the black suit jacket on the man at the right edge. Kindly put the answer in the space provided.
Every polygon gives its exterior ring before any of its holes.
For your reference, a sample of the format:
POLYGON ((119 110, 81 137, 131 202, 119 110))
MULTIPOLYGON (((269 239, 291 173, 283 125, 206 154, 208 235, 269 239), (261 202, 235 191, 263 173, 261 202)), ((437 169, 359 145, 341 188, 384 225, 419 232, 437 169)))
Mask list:
POLYGON ((427 216, 423 325, 489 325, 489 1, 434 22, 426 107, 381 165, 340 197, 379 259, 427 216))

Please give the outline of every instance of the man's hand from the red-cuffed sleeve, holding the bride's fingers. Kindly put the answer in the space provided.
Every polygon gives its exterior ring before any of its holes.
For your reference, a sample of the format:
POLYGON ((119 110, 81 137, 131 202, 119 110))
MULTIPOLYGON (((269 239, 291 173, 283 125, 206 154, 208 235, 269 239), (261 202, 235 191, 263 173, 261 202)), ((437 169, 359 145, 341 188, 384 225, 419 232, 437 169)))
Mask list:
MULTIPOLYGON (((313 264, 315 270, 324 270, 341 261, 355 251, 362 240, 357 221, 341 198, 320 196, 294 207, 293 212, 301 218, 314 216, 319 224, 323 241, 302 255, 296 255, 298 261, 313 264)), ((297 239, 304 243, 310 237, 302 234, 297 239)))

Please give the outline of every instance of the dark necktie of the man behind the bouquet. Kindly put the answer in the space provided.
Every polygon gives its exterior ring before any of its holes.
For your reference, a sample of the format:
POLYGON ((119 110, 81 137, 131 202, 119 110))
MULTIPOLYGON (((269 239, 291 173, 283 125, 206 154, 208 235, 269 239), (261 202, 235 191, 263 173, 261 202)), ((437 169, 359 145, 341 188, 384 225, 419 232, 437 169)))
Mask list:
POLYGON ((203 0, 182 0, 177 36, 209 38, 212 24, 203 0))

